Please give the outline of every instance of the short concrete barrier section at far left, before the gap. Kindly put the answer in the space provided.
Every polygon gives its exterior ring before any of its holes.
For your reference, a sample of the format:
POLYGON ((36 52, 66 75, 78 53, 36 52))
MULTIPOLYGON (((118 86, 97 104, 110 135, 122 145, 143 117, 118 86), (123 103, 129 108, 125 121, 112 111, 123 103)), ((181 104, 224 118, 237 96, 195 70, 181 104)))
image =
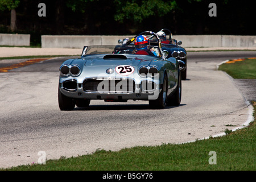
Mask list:
POLYGON ((0 46, 30 46, 30 35, 0 34, 0 46))

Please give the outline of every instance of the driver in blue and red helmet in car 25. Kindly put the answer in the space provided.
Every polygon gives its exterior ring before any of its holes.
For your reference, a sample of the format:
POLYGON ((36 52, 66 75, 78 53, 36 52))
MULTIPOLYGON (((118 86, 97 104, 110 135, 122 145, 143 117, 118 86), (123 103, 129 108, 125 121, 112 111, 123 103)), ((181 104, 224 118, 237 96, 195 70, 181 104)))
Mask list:
POLYGON ((148 38, 144 35, 139 35, 135 42, 135 49, 133 51, 133 54, 139 53, 138 51, 146 51, 148 55, 150 56, 157 56, 159 57, 159 52, 154 48, 150 46, 150 43, 148 41, 148 38))

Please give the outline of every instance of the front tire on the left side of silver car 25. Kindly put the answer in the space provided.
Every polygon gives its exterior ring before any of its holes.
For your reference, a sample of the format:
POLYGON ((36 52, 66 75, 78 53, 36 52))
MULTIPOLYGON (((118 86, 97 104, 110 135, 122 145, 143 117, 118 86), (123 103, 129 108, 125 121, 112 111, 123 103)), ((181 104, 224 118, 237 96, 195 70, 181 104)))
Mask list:
POLYGON ((76 100, 67 96, 64 96, 63 93, 58 92, 58 101, 60 110, 73 110, 76 105, 76 100))

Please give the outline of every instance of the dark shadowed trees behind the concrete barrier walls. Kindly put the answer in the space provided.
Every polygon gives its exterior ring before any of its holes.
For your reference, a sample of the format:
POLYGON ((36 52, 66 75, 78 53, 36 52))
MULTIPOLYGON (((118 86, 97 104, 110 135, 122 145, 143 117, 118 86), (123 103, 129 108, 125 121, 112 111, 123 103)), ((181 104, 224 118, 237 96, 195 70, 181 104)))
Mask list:
POLYGON ((168 28, 174 35, 255 35, 253 1, 236 0, 0 0, 0 33, 135 35, 168 28), (217 16, 208 15, 216 3, 217 16), (39 16, 39 3, 46 16, 39 16))

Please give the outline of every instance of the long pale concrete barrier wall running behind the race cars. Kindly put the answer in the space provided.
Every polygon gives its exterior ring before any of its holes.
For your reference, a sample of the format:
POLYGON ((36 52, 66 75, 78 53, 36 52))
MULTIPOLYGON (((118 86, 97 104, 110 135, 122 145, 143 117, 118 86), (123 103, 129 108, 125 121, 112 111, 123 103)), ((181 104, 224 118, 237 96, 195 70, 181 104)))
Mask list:
MULTIPOLYGON (((82 48, 84 46, 117 45, 118 39, 134 35, 42 35, 43 48, 82 48)), ((256 36, 240 35, 174 35, 182 47, 256 47, 256 36)))

